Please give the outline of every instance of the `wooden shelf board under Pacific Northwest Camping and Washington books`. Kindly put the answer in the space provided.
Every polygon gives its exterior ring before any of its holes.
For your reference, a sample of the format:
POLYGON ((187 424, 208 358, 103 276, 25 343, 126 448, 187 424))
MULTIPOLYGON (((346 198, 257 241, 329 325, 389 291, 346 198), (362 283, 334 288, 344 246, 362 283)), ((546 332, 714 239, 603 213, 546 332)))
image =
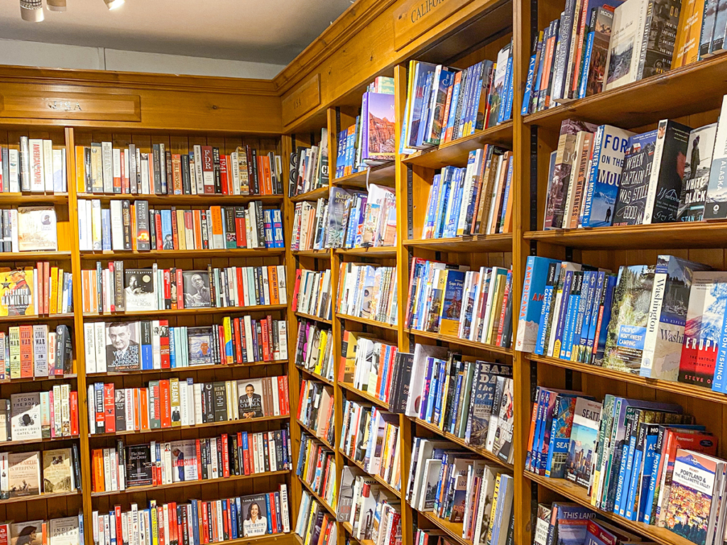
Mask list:
POLYGON ((603 379, 613 379, 630 384, 639 384, 640 386, 664 390, 664 392, 688 395, 689 397, 712 401, 713 403, 727 404, 727 394, 714 392, 710 388, 694 386, 694 384, 684 384, 683 382, 672 382, 670 380, 649 379, 646 376, 640 376, 639 374, 624 373, 624 371, 592 366, 587 363, 560 360, 558 358, 547 358, 547 356, 539 356, 535 354, 528 354, 526 355, 526 358, 537 363, 546 363, 549 366, 561 367, 571 369, 572 371, 600 376, 603 379))

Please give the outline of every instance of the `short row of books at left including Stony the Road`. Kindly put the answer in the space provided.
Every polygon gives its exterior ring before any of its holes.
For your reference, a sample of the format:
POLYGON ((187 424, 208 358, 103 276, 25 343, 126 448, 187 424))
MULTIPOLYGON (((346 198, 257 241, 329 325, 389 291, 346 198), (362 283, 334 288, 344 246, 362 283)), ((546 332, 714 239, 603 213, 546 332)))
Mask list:
POLYGON ((79 393, 71 384, 0 400, 0 439, 30 441, 79 435, 79 393), (4 424, 4 425, 3 425, 4 424))

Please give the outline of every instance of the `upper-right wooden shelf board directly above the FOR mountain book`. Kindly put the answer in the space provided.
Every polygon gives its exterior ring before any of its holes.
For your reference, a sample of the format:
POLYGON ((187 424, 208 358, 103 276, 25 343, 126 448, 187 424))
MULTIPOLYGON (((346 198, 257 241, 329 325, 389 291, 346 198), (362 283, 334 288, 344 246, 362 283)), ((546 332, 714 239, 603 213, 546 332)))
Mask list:
POLYGON ((630 129, 659 119, 712 110, 722 104, 726 69, 727 55, 717 55, 618 89, 532 113, 524 122, 559 131, 563 120, 574 118, 630 129))

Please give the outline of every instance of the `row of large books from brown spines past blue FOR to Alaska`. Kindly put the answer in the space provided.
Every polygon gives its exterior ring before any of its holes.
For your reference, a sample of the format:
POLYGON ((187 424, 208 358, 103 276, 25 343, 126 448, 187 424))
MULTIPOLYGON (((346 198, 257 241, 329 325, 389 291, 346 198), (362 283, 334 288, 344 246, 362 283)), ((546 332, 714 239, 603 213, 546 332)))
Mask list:
POLYGON ((664 119, 635 134, 563 121, 550 154, 543 229, 726 219, 726 116, 727 96, 720 122, 696 129, 664 119))

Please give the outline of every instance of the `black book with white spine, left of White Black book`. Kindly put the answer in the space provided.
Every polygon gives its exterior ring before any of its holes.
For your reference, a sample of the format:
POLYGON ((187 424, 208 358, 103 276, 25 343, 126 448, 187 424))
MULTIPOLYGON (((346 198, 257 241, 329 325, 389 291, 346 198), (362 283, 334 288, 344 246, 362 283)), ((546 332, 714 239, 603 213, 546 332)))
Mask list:
POLYGON ((681 180, 691 127, 662 119, 656 129, 656 148, 643 223, 671 223, 677 220, 681 180))

